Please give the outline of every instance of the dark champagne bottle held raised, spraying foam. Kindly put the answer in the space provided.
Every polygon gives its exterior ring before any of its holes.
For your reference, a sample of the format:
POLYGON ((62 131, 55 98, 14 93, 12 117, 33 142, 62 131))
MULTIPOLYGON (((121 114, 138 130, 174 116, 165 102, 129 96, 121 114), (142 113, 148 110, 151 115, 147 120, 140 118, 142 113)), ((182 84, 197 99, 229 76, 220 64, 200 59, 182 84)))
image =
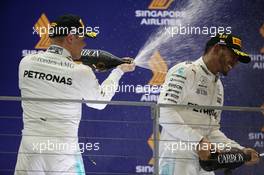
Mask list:
POLYGON ((99 72, 115 68, 120 64, 132 63, 130 59, 121 59, 104 50, 83 49, 81 55, 81 62, 84 65, 88 65, 99 72))

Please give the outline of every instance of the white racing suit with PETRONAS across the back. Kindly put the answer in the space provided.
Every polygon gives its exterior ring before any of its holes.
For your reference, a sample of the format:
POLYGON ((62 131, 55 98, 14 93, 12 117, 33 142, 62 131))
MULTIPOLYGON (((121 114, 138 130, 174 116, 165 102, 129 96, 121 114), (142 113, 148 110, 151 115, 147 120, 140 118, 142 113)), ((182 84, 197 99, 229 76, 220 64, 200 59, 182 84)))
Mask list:
MULTIPOLYGON (((22 97, 109 101, 122 75, 121 69, 114 69, 99 85, 90 67, 73 62, 66 49, 51 45, 46 52, 21 60, 19 88, 22 97)), ((22 108, 24 129, 15 174, 85 174, 78 145, 82 104, 23 101, 22 108)))

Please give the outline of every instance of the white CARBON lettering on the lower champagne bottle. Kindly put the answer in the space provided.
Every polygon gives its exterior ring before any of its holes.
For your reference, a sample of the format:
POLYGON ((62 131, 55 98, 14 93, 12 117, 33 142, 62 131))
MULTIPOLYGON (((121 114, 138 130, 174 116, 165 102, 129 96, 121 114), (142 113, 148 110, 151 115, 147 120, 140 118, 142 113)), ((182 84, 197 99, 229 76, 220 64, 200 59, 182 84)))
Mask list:
POLYGON ((244 157, 240 153, 236 154, 221 154, 217 157, 217 161, 220 164, 228 164, 228 163, 243 163, 244 157))

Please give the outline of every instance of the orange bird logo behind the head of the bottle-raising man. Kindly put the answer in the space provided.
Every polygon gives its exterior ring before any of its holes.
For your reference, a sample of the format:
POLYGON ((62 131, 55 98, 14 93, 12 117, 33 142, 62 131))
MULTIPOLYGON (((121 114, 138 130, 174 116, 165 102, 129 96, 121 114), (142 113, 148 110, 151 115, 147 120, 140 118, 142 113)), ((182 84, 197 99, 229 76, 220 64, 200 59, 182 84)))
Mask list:
MULTIPOLYGON (((50 22, 47 18, 47 16, 42 13, 36 24, 34 25, 34 28, 37 30, 38 34, 42 33, 42 29, 48 29, 50 25, 50 22)), ((50 45, 50 38, 48 32, 45 32, 44 34, 40 35, 40 40, 35 46, 36 49, 47 49, 50 45)))

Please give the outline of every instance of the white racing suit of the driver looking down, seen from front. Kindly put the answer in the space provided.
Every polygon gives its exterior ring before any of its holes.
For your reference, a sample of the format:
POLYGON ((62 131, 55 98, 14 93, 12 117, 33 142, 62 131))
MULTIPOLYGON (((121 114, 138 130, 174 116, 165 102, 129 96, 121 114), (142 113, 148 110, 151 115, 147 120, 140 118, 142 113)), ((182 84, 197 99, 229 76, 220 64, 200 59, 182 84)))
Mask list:
MULTIPOLYGON (((222 106, 224 91, 221 80, 212 74, 200 58, 172 67, 163 85, 158 103, 222 106)), ((239 144, 220 130, 221 111, 214 109, 160 108, 159 169, 160 175, 212 175, 199 165, 196 145, 206 137, 218 149, 239 144)))

